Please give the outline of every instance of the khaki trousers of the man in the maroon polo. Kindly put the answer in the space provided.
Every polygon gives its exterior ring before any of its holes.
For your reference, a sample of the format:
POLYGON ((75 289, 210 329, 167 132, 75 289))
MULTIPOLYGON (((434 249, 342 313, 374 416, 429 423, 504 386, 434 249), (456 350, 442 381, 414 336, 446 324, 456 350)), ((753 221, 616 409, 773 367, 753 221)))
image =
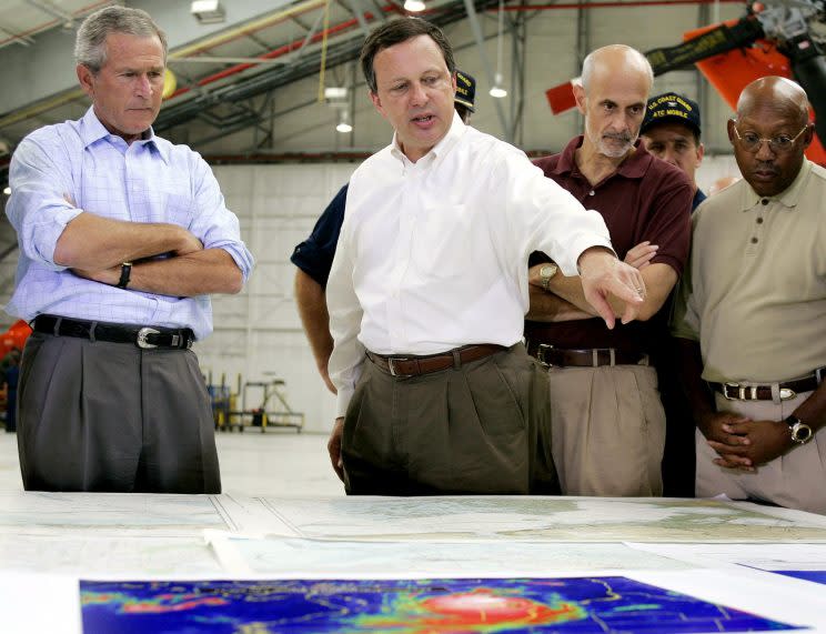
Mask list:
POLYGON ((552 447, 565 495, 663 494, 665 413, 647 365, 548 368, 552 447))

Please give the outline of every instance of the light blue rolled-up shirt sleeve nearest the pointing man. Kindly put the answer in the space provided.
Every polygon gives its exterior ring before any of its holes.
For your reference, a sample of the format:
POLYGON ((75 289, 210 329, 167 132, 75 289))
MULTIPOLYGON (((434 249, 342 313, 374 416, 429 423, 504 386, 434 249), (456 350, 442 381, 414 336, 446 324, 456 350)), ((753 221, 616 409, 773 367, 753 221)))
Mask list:
POLYGON ((254 259, 241 240, 238 217, 226 209, 224 197, 206 161, 193 152, 195 213, 189 230, 203 242, 204 249, 223 249, 234 260, 246 282, 254 259))

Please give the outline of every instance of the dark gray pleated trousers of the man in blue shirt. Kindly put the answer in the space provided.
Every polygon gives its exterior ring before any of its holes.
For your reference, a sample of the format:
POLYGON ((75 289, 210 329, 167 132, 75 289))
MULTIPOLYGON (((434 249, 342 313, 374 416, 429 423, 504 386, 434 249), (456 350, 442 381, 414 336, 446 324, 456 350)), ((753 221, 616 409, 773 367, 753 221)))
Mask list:
POLYGON ((209 395, 190 350, 33 333, 18 450, 27 490, 221 492, 209 395))

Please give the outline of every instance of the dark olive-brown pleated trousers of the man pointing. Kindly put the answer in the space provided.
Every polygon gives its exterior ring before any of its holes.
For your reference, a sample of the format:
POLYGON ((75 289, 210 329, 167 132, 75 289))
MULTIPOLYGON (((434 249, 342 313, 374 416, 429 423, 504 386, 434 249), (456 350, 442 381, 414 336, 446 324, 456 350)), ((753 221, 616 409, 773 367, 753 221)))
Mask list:
POLYGON ((555 494, 547 434, 547 381, 521 343, 411 378, 366 361, 344 419, 346 492, 555 494))

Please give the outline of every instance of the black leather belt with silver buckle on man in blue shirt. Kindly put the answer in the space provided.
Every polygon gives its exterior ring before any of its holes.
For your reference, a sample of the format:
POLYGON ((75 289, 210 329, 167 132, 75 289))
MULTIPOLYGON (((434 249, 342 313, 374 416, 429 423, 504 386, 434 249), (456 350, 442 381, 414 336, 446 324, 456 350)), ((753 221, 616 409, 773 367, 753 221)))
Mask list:
POLYGON ((56 336, 77 336, 88 339, 89 341, 131 343, 143 349, 168 348, 187 350, 192 348, 192 342, 195 341, 195 335, 189 328, 141 326, 83 321, 58 315, 38 315, 32 323, 32 330, 56 336))

